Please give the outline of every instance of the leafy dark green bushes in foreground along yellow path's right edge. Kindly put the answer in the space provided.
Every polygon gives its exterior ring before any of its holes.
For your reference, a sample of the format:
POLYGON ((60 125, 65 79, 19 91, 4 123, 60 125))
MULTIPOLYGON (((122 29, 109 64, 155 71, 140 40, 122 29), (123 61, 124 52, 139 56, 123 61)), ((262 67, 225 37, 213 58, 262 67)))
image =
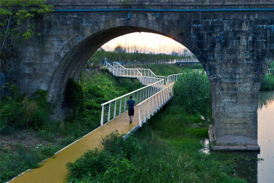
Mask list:
POLYGON ((144 146, 136 137, 125 141, 123 136, 111 132, 102 138, 102 150, 88 150, 74 163, 67 163, 68 181, 135 182, 140 169, 130 159, 141 155, 144 146))

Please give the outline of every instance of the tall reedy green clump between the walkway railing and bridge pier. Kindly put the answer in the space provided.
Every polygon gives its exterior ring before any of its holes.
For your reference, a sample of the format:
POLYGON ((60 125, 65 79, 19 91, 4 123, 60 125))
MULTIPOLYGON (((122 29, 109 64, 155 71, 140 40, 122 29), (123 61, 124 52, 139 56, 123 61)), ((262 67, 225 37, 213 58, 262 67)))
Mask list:
POLYGON ((176 105, 182 106, 187 113, 209 116, 211 88, 206 74, 187 70, 175 82, 173 89, 176 105))

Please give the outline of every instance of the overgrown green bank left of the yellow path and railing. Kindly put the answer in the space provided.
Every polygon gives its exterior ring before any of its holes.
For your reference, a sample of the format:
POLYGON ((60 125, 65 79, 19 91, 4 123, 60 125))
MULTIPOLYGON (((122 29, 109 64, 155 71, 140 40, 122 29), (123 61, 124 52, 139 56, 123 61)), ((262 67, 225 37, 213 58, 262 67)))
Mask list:
POLYGON ((46 91, 27 98, 17 90, 1 97, 1 182, 37 166, 39 162, 100 126, 101 103, 141 88, 138 80, 120 83, 106 70, 93 72, 76 83, 70 81, 67 100, 73 103, 73 116, 63 121, 49 118, 54 106, 46 91), (81 94, 75 95, 73 90, 81 94), (31 131, 31 132, 30 132, 31 131), (31 133, 31 135, 29 135, 31 133), (14 138, 11 142, 11 138, 14 138), (8 139, 8 140, 7 140, 8 139), (53 145, 54 144, 54 145, 53 145))

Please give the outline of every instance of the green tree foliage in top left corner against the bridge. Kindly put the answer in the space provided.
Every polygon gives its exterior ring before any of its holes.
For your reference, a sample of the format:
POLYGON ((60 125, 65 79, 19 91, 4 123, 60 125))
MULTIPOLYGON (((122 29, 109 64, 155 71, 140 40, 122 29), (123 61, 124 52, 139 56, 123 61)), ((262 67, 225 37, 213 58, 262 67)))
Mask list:
MULTIPOLYGON (((11 47, 15 35, 18 38, 30 39, 35 33, 31 23, 25 19, 34 18, 36 14, 53 11, 52 5, 45 5, 45 0, 1 0, 1 51, 11 47), (23 27, 23 32, 19 27, 23 27)), ((40 33, 37 33, 40 35, 40 33)))

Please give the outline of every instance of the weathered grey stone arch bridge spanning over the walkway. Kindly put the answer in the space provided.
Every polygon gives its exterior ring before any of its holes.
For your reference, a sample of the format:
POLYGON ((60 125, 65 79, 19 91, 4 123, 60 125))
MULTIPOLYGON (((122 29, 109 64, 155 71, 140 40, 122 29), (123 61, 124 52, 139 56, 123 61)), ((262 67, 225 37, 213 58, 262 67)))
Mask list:
POLYGON ((34 18, 35 32, 17 52, 20 90, 48 91, 61 102, 101 45, 133 32, 170 37, 203 65, 211 84, 216 143, 257 144, 257 100, 274 59, 271 1, 47 1, 55 11, 34 18))

